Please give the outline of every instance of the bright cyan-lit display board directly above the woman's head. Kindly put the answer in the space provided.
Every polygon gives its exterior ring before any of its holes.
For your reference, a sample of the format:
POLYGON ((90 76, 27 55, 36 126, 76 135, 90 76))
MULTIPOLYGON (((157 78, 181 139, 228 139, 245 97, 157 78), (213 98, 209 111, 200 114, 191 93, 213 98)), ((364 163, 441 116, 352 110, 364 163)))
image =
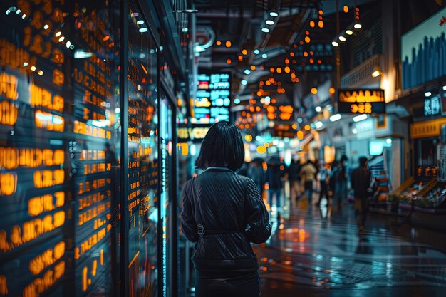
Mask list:
POLYGON ((197 123, 213 124, 220 120, 229 120, 229 73, 199 74, 197 84, 197 98, 193 107, 197 123))

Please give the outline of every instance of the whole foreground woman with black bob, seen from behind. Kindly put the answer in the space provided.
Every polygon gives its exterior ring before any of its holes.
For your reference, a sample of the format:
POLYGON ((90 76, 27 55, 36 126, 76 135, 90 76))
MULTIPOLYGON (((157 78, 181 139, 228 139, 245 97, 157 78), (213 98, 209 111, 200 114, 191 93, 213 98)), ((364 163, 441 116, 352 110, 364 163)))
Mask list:
POLYGON ((258 297, 259 266, 251 242, 271 235, 269 213, 256 184, 235 173, 244 146, 239 129, 226 121, 212 125, 195 166, 202 174, 182 193, 182 233, 195 242, 195 297, 258 297))

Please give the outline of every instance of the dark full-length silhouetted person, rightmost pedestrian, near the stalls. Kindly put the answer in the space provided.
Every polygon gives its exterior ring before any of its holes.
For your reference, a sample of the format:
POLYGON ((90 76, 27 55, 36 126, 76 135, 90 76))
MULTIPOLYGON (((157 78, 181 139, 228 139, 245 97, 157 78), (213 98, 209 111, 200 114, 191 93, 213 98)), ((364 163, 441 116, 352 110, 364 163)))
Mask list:
POLYGON ((370 197, 371 174, 367 168, 368 160, 366 157, 359 158, 359 168, 351 172, 351 187, 355 196, 356 222, 359 231, 364 230, 365 219, 368 212, 368 197, 370 197))

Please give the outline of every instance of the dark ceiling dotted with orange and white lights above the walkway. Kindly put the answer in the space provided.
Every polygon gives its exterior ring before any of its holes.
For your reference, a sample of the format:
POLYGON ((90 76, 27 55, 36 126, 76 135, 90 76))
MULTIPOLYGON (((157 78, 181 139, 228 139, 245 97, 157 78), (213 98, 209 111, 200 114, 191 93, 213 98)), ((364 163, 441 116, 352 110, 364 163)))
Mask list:
POLYGON ((334 0, 195 0, 200 71, 232 73, 239 110, 266 95, 298 108, 311 88, 336 77, 331 41, 353 25, 356 7, 363 18, 373 2, 339 0, 336 14, 334 0))

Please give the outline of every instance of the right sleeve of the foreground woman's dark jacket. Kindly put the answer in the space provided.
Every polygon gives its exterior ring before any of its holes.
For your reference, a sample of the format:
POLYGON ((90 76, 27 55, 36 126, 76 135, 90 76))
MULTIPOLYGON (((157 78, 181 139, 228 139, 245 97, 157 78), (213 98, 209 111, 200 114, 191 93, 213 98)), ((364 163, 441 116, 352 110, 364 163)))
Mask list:
POLYGON ((247 238, 254 244, 264 243, 271 236, 269 213, 261 199, 259 190, 251 179, 248 179, 247 194, 245 197, 247 212, 247 238))

